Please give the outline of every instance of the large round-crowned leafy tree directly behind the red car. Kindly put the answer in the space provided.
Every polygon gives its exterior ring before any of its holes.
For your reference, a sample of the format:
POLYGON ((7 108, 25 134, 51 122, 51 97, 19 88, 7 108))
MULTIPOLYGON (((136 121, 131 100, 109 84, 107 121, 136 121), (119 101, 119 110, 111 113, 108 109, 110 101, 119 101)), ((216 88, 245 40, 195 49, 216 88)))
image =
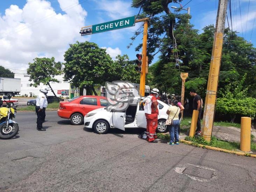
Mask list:
POLYGON ((91 86, 95 95, 94 85, 102 85, 113 81, 117 76, 114 62, 97 44, 76 42, 64 54, 64 79, 70 80, 74 86, 91 86))

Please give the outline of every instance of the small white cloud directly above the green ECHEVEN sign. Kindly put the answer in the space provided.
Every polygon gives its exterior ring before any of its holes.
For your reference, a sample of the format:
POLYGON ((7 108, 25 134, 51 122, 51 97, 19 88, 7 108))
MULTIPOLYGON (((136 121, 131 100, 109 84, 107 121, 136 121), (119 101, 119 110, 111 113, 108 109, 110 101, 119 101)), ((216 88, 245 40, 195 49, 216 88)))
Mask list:
POLYGON ((103 10, 112 19, 133 16, 131 3, 120 0, 97 0, 98 9, 103 10))

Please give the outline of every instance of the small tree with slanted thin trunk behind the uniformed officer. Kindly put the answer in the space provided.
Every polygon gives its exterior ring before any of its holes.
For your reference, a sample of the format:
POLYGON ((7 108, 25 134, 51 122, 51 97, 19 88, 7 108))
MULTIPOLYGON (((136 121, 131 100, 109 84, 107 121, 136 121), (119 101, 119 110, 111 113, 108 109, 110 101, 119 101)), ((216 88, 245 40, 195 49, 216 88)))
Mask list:
POLYGON ((61 63, 55 62, 54 57, 52 58, 35 58, 33 59, 34 63, 29 63, 29 68, 27 70, 27 74, 30 75, 29 81, 33 81, 30 86, 37 87, 40 83, 44 85, 48 85, 54 94, 56 94, 50 85, 50 81, 58 82, 54 76, 61 74, 60 66, 61 63))

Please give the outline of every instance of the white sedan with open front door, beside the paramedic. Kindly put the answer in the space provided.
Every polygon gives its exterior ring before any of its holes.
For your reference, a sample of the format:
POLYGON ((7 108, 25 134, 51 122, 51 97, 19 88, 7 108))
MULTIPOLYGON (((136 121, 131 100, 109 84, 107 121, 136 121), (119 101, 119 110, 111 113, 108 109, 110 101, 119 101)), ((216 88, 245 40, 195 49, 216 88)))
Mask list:
MULTIPOLYGON (((164 133, 166 132, 165 121, 168 118, 166 111, 169 105, 157 101, 159 105, 157 131, 164 133)), ((125 112, 107 111, 106 108, 95 109, 84 117, 84 125, 86 128, 93 128, 99 134, 105 134, 109 128, 121 130, 125 130, 125 128, 147 128, 147 121, 144 108, 138 104, 137 106, 129 105, 125 112)))

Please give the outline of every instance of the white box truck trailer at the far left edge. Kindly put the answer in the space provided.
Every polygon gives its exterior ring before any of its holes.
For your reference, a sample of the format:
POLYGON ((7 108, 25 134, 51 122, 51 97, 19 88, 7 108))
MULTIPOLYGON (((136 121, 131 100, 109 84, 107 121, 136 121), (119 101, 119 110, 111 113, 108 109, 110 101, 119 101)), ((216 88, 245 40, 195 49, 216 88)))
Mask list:
POLYGON ((0 95, 19 95, 21 79, 0 77, 0 95))

